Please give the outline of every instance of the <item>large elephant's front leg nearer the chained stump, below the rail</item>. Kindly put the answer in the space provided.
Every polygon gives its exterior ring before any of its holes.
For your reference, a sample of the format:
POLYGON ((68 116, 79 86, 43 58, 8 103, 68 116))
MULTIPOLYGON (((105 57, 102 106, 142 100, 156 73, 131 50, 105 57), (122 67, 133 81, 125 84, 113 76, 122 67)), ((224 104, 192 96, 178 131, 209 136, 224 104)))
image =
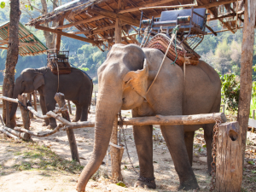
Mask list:
POLYGON ((161 131, 179 177, 180 186, 178 190, 199 189, 195 174, 189 163, 184 142, 183 125, 161 125, 161 131))

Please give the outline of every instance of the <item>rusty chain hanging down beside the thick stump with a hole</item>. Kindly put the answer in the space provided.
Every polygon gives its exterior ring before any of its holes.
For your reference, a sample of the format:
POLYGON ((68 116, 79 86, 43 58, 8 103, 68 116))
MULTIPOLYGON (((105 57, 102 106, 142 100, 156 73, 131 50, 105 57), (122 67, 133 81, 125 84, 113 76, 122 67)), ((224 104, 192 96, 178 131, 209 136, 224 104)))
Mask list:
POLYGON ((213 141, 212 141, 212 179, 211 179, 211 188, 210 191, 213 191, 215 189, 215 182, 216 182, 216 155, 217 155, 217 139, 218 139, 218 125, 221 122, 219 120, 216 120, 216 124, 213 127, 213 141))

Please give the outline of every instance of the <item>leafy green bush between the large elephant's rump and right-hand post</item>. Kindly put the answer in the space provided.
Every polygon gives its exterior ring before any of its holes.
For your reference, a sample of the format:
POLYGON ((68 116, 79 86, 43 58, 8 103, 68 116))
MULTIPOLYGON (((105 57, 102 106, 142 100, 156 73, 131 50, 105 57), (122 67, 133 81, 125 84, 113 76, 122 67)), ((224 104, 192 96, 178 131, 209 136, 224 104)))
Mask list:
POLYGON ((227 109, 236 112, 240 93, 240 83, 236 80, 236 74, 227 73, 220 75, 222 89, 221 95, 223 102, 228 105, 227 109))

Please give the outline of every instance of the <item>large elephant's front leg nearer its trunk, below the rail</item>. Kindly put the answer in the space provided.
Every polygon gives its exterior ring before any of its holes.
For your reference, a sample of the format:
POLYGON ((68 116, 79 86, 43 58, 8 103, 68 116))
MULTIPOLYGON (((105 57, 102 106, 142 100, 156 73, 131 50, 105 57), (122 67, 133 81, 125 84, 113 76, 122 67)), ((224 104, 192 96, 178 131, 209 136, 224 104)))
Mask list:
POLYGON ((133 126, 140 166, 140 176, 134 185, 135 187, 147 187, 149 189, 156 187, 154 183, 152 131, 152 125, 133 126))

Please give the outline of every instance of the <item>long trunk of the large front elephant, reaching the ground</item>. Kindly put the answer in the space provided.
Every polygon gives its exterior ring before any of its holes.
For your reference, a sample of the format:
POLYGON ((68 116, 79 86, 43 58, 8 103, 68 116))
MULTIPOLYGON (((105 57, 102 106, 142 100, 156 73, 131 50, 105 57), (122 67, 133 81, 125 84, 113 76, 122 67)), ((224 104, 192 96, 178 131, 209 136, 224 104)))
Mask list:
MULTIPOLYGON (((101 94, 99 92, 97 105, 96 105, 96 126, 95 126, 95 142, 93 153, 90 157, 89 163, 84 167, 78 181, 77 190, 79 192, 84 192, 86 184, 88 183, 90 177, 97 171, 99 166, 102 165, 102 160, 108 150, 108 144, 110 141, 113 121, 115 115, 119 113, 122 105, 122 101, 104 98, 102 100, 102 95, 104 97, 106 94, 101 94)), ((120 97, 119 97, 120 98, 120 97)))

